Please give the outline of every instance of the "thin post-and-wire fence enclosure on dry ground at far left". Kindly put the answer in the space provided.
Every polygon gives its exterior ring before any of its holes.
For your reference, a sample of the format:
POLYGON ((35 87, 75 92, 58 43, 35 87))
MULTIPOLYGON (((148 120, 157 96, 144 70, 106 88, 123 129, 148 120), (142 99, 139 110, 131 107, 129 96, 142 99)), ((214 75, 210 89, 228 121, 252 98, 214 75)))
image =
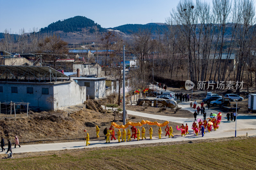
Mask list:
POLYGON ((24 102, 0 102, 0 115, 1 114, 10 114, 12 115, 14 113, 14 116, 16 117, 16 113, 21 112, 27 112, 28 116, 28 109, 29 109, 29 103, 24 102))

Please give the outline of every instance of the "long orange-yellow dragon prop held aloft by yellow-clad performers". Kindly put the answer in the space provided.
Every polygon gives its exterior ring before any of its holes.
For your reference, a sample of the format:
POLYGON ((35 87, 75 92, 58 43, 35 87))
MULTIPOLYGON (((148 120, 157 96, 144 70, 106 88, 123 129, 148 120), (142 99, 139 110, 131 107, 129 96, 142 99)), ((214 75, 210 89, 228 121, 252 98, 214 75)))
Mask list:
POLYGON ((164 123, 158 123, 158 122, 150 122, 150 121, 144 121, 142 120, 141 122, 137 122, 137 123, 134 123, 134 122, 127 122, 125 125, 118 125, 116 124, 115 122, 112 122, 111 125, 115 128, 122 128, 122 129, 126 129, 128 128, 128 126, 142 126, 144 124, 148 124, 148 125, 156 125, 156 126, 159 126, 159 127, 163 127, 163 126, 166 126, 167 124, 169 124, 168 121, 165 121, 164 123))

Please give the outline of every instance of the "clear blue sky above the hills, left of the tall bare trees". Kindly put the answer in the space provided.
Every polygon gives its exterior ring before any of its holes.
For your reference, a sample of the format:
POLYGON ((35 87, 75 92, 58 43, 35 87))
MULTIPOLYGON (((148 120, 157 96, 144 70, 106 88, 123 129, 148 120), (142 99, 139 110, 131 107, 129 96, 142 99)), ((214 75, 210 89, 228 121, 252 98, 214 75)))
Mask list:
MULTIPOLYGON (((208 1, 208 0, 207 0, 208 1)), ((209 0, 211 1, 211 0, 209 0)), ((0 0, 0 32, 19 33, 57 20, 85 16, 104 28, 165 22, 178 0, 0 0)))

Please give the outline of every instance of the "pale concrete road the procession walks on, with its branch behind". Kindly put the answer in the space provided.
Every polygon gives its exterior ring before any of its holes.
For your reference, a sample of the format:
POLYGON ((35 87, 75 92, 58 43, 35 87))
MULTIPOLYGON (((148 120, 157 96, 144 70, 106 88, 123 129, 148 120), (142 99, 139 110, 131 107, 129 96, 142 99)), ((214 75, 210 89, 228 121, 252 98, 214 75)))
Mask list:
MULTIPOLYGON (((189 108, 189 103, 181 103, 179 105, 182 109, 186 109, 194 112, 193 109, 189 108)), ((210 112, 218 113, 215 110, 206 110, 207 115, 209 116, 210 112)), ((137 115, 145 117, 145 120, 148 118, 167 120, 177 123, 188 123, 189 127, 192 126, 194 119, 192 118, 179 118, 172 116, 161 116, 161 115, 152 115, 140 112, 134 112, 127 110, 129 115, 137 115)), ((23 152, 42 152, 42 151, 55 151, 55 150, 65 150, 65 149, 80 149, 80 148, 92 148, 92 147, 105 147, 105 146, 118 146, 118 145, 131 145, 131 144, 149 144, 149 143, 158 143, 158 142, 175 142, 175 141, 190 141, 196 139, 209 139, 209 138, 220 138, 220 137, 234 137, 235 136, 235 122, 227 122, 225 118, 226 115, 222 115, 222 121, 220 128, 216 131, 210 133, 206 132, 204 137, 201 135, 196 136, 193 133, 192 129, 189 129, 190 134, 186 137, 180 137, 180 135, 175 135, 173 138, 165 137, 163 134, 162 139, 158 137, 153 137, 152 140, 132 140, 130 142, 118 143, 117 140, 111 141, 111 143, 105 143, 105 140, 100 141, 90 141, 91 145, 85 146, 84 142, 68 142, 68 143, 53 143, 53 144, 35 144, 35 145, 21 145, 21 148, 13 148, 12 153, 23 153, 23 152)), ((203 118, 202 115, 198 115, 197 118, 203 118)), ((237 136, 245 136, 248 132, 248 136, 256 135, 256 115, 238 115, 237 117, 237 136)), ((175 127, 173 127, 175 128, 175 127)), ((6 148, 6 147, 5 147, 6 148)), ((7 151, 7 150, 5 150, 7 151)), ((3 154, 4 152, 0 152, 3 154)), ((10 153, 10 152, 9 152, 10 153)))

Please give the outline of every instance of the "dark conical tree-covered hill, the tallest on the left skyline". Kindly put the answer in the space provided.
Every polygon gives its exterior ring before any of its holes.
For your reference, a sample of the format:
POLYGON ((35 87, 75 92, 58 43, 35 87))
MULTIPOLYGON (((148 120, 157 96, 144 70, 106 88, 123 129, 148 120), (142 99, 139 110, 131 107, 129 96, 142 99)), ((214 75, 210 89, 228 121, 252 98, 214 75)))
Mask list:
POLYGON ((102 28, 97 23, 94 23, 92 19, 76 16, 73 18, 64 19, 63 21, 53 22, 47 27, 41 28, 41 33, 44 32, 54 32, 54 31, 64 31, 64 32, 76 32, 81 31, 82 28, 89 27, 89 31, 94 32, 93 26, 98 27, 98 31, 105 31, 105 28, 102 28))

